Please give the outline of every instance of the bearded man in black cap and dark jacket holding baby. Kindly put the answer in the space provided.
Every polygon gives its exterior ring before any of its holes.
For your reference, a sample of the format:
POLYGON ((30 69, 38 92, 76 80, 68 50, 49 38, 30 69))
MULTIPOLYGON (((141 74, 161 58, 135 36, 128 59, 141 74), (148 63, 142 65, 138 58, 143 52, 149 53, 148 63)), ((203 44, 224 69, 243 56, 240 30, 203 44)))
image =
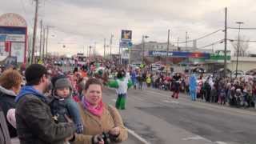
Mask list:
POLYGON ((18 138, 21 144, 64 143, 75 131, 73 122, 54 122, 44 93, 49 87, 47 70, 38 64, 25 72, 27 85, 15 101, 18 138))

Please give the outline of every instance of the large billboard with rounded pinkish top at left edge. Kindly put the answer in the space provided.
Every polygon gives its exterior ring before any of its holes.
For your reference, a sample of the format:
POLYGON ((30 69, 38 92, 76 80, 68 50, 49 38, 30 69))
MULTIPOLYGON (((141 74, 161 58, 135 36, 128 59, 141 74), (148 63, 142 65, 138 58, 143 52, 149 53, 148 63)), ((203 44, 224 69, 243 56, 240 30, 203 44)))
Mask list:
POLYGON ((8 13, 0 16, 0 54, 2 56, 14 57, 17 62, 26 62, 26 26, 25 19, 18 14, 8 13))

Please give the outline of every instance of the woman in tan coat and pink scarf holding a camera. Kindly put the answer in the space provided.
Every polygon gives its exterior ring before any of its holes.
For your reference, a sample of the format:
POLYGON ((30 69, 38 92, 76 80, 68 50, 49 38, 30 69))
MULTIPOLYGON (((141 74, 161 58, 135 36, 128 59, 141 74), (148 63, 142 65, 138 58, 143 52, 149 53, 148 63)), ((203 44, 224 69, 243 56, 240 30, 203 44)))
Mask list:
POLYGON ((70 140, 81 144, 107 144, 123 142, 128 133, 123 125, 121 115, 114 106, 102 102, 102 82, 90 78, 82 90, 82 102, 79 112, 82 117, 83 134, 74 134, 70 140))

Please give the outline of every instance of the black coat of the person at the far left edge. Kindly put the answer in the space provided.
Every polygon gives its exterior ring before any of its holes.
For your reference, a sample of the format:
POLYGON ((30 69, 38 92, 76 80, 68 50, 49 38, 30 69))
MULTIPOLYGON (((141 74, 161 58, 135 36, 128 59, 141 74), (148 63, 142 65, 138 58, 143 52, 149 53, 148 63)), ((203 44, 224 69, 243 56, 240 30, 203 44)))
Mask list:
MULTIPOLYGON (((14 94, 12 90, 6 90, 0 86, 0 106, 2 107, 3 114, 5 114, 5 118, 8 110, 15 109, 15 98, 16 94, 14 94)), ((6 123, 10 133, 10 138, 17 137, 17 131, 14 126, 12 126, 10 122, 7 121, 7 119, 6 123)))

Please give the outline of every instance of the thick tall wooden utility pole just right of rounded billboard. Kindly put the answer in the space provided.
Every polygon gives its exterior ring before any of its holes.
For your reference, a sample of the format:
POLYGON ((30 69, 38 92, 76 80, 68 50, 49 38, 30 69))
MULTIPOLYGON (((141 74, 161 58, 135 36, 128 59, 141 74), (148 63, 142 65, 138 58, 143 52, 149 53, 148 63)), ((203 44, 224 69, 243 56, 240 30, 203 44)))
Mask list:
POLYGON ((32 44, 32 63, 34 63, 34 49, 35 41, 37 37, 37 26, 38 26, 38 0, 35 1, 35 13, 34 13, 34 32, 33 32, 33 44, 32 44))

